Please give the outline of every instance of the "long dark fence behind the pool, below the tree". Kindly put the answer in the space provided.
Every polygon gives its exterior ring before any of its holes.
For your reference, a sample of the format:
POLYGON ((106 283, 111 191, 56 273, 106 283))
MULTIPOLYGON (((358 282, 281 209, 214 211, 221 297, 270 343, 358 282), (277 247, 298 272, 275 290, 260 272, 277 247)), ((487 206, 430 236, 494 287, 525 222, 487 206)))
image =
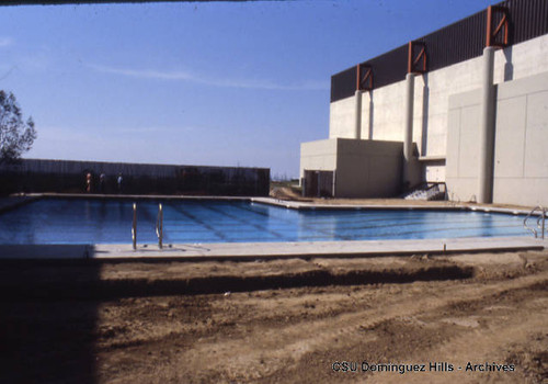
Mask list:
POLYGON ((88 173, 89 193, 266 196, 270 189, 267 168, 23 159, 0 165, 0 195, 87 192, 88 173))

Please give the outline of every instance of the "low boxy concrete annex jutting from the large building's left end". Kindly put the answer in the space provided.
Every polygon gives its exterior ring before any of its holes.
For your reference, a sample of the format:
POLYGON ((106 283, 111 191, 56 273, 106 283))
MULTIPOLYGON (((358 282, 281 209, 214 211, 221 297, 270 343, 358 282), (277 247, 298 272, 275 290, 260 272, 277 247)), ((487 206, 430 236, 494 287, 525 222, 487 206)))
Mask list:
POLYGON ((332 138, 300 146, 300 177, 335 171, 335 197, 386 197, 400 193, 402 143, 332 138))

